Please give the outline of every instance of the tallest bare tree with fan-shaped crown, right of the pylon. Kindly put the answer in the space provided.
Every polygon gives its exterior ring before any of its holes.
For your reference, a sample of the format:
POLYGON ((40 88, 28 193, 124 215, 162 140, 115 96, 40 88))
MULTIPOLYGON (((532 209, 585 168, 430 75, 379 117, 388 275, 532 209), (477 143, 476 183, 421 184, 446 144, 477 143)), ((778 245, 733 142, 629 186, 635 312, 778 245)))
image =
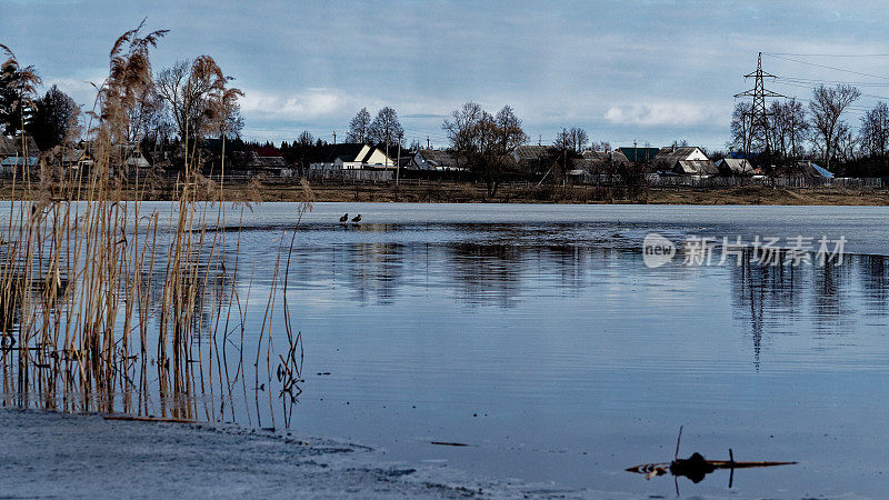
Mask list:
POLYGON ((838 84, 836 87, 818 86, 812 90, 809 110, 812 113, 815 129, 813 142, 820 148, 825 159, 825 168, 830 170, 831 157, 839 140, 842 128, 842 112, 855 102, 861 92, 851 86, 838 84))

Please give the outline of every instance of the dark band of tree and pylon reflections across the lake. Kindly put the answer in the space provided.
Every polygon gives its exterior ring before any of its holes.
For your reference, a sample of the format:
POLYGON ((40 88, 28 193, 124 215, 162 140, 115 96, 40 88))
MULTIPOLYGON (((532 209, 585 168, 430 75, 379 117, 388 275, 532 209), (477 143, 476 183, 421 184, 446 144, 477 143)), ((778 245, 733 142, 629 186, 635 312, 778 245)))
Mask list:
MULTIPOLYGON (((360 306, 398 306, 440 293, 434 300, 451 297, 466 310, 516 310, 541 297, 586 300, 609 288, 623 289, 628 280, 635 284, 620 299, 627 304, 645 289, 666 302, 726 294, 733 321, 750 339, 757 370, 765 346, 775 336, 846 336, 855 331, 862 314, 885 318, 889 313, 889 269, 881 256, 847 254, 839 264, 770 266, 748 252, 738 264, 646 270, 641 254, 632 248, 568 244, 565 234, 527 228, 516 230, 513 243, 506 242, 509 231, 499 226, 483 228, 485 238, 469 228, 449 229, 468 234, 441 243, 338 242, 302 248, 301 264, 294 270, 297 287, 344 289, 347 300, 360 306), (535 241, 541 238, 539 244, 530 244, 529 234, 535 241), (726 276, 728 289, 713 281, 711 277, 717 276, 726 276)), ((585 308, 593 311, 597 306, 593 299, 585 308)), ((693 328, 695 319, 689 322, 693 328)))

